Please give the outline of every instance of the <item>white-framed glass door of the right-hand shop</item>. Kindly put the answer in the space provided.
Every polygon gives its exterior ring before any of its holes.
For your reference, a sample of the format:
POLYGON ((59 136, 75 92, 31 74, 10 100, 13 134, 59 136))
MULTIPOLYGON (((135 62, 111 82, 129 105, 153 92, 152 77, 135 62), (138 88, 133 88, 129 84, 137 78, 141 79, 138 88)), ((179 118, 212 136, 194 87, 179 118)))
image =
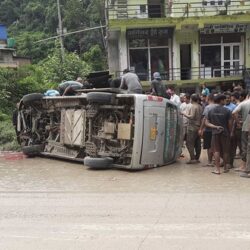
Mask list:
POLYGON ((239 75, 240 73, 240 44, 222 46, 223 76, 239 75))

